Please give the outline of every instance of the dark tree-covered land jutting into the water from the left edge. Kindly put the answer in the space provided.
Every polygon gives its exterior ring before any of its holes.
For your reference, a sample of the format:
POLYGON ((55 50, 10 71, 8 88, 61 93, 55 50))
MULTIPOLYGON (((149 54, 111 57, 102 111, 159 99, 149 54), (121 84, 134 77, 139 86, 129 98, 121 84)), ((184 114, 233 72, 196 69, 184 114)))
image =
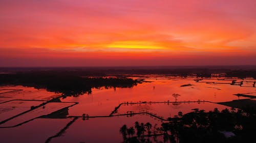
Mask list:
POLYGON ((70 74, 47 72, 0 74, 0 85, 23 85, 50 92, 61 93, 63 97, 92 93, 92 88, 131 88, 141 80, 126 77, 82 77, 70 74))

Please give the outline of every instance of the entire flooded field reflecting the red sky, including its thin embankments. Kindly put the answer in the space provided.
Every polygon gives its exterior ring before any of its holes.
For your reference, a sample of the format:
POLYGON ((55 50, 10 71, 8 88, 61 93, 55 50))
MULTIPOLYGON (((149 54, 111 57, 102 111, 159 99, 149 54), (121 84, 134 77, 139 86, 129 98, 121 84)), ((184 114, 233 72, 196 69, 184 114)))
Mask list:
MULTIPOLYGON (((66 98, 44 89, 0 87, 1 142, 122 142, 119 129, 124 124, 150 122, 154 130, 178 112, 231 109, 224 102, 254 102, 256 97, 256 80, 251 78, 132 78, 146 82, 66 98)), ((147 139, 164 141, 161 136, 147 139)))

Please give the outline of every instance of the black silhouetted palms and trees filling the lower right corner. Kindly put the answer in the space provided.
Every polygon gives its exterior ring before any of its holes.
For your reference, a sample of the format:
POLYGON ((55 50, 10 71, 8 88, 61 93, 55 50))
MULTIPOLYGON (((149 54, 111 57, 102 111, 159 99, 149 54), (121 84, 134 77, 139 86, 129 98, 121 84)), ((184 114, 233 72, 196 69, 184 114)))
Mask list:
POLYGON ((255 112, 245 112, 235 108, 219 111, 205 112, 204 110, 193 109, 193 112, 170 119, 160 127, 151 123, 135 122, 136 133, 129 130, 133 127, 123 125, 120 133, 123 142, 155 142, 157 136, 163 138, 163 142, 255 142, 256 131, 255 112), (133 136, 136 134, 136 136, 133 136), (128 137, 127 137, 128 135, 128 137))

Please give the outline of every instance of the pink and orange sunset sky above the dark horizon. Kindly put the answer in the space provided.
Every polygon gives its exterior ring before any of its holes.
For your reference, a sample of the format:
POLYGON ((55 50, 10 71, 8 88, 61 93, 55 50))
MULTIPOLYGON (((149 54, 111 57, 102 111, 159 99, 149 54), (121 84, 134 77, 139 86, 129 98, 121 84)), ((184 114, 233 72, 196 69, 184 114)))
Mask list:
POLYGON ((255 0, 1 0, 0 67, 255 65, 255 0))

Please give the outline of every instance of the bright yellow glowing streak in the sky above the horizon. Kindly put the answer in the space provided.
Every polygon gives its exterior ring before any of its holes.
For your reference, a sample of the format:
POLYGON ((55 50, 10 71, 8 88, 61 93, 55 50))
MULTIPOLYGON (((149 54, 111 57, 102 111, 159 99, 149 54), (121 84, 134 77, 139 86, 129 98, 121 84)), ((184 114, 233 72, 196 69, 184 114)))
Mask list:
POLYGON ((127 48, 127 49, 165 49, 157 43, 150 41, 116 41, 106 47, 108 48, 127 48))

